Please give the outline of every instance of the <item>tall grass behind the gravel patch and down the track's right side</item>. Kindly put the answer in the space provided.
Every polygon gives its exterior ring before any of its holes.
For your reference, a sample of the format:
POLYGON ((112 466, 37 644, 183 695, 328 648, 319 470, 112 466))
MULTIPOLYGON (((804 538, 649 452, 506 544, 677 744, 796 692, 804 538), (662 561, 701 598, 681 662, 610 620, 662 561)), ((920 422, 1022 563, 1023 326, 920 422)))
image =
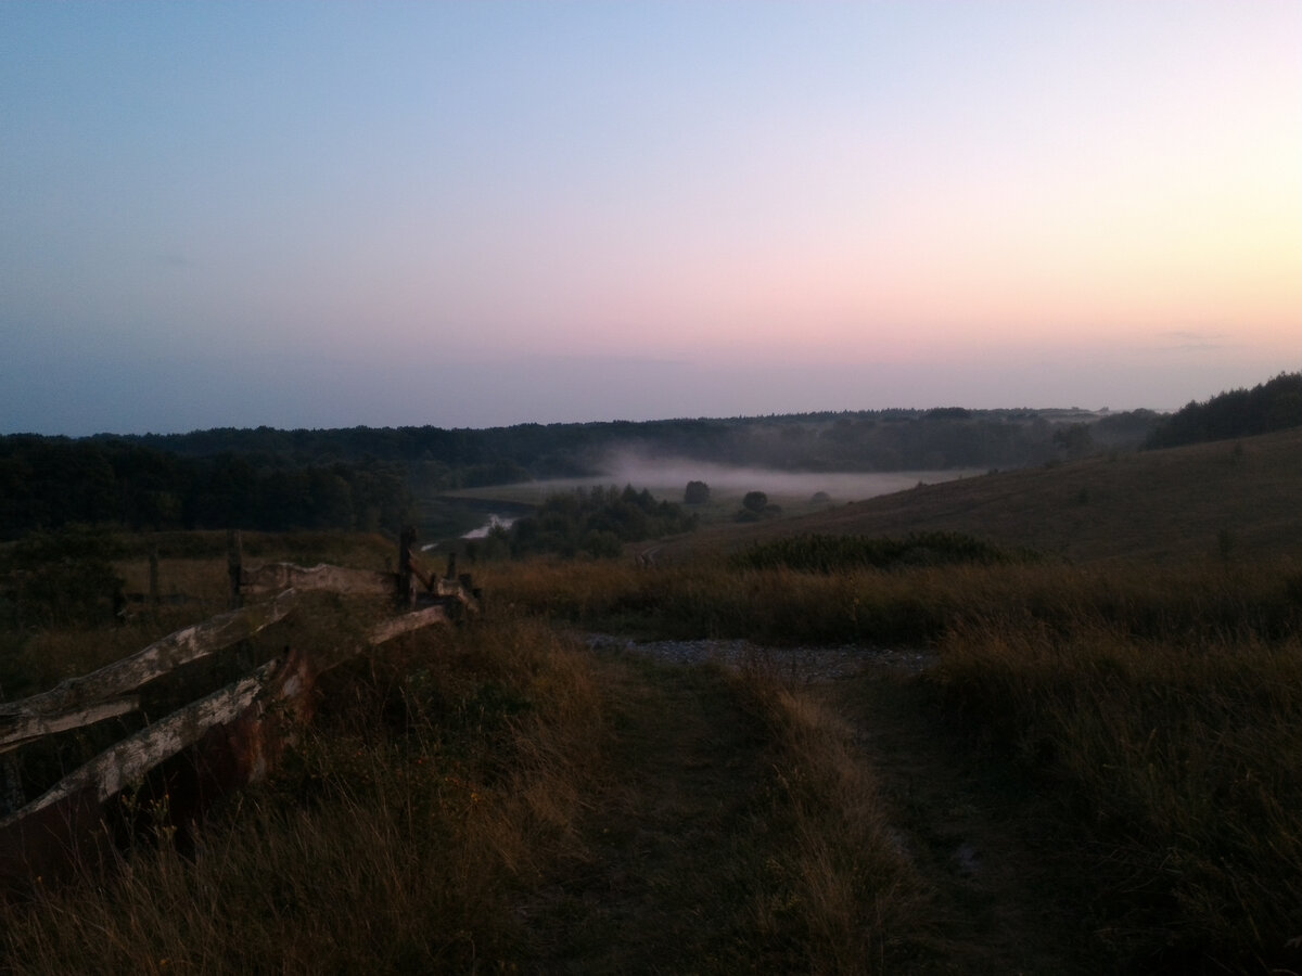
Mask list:
POLYGON ((1302 969, 1302 571, 997 565, 503 570, 579 626, 930 644, 940 703, 1061 800, 1090 924, 1139 969, 1302 969), (1292 947, 1290 947, 1292 946, 1292 947))

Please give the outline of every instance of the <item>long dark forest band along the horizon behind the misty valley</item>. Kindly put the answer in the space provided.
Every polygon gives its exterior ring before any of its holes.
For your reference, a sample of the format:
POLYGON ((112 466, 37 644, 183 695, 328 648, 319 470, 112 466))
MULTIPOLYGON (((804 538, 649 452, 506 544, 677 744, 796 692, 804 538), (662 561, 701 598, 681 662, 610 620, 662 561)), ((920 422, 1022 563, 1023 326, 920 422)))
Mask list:
POLYGON ((602 478, 612 458, 792 471, 1010 468, 1139 446, 1147 410, 875 410, 763 418, 0 437, 0 537, 64 524, 392 528, 440 492, 602 478))

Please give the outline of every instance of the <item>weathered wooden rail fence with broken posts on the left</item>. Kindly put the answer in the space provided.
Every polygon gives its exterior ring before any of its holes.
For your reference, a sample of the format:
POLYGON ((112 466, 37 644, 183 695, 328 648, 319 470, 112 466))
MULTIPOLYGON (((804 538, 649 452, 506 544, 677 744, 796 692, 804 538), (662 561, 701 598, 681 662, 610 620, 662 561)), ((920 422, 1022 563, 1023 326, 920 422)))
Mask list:
POLYGON ((197 813, 206 800, 263 777, 294 727, 310 718, 310 692, 320 674, 402 634, 479 613, 480 595, 470 578, 458 576, 453 561, 441 578, 426 571, 411 552, 414 539, 411 530, 402 532, 397 573, 374 573, 284 562, 246 569, 238 534, 232 534, 227 613, 49 691, 0 703, 0 890, 70 863, 87 841, 103 834, 105 804, 167 763, 186 769, 193 794, 173 799, 177 816, 197 813), (294 613, 309 591, 389 596, 396 612, 352 645, 286 647, 26 799, 18 764, 23 746, 137 711, 143 686, 272 627, 294 613), (250 599, 260 600, 246 604, 250 599))

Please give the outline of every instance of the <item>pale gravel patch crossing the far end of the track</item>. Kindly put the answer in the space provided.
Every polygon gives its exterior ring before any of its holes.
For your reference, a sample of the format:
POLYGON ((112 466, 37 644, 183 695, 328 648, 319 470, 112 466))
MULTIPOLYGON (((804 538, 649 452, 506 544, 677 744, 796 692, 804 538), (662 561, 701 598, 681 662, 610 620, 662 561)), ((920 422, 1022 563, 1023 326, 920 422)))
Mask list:
POLYGON ((768 647, 750 640, 630 640, 616 634, 583 634, 594 651, 629 651, 668 664, 713 661, 729 668, 759 666, 797 682, 833 681, 865 668, 919 674, 935 661, 927 651, 898 651, 844 644, 840 647, 768 647))

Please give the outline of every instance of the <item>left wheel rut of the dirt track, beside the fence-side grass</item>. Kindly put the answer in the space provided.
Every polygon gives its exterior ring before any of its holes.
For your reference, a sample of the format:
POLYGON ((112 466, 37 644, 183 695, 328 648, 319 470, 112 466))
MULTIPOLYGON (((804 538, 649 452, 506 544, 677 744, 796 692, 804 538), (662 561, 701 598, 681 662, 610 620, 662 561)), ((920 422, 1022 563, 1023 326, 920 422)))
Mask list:
MULTIPOLYGON (((613 786, 592 799, 590 856, 526 908, 548 972, 784 972, 753 940, 764 865, 766 738, 715 670, 602 655, 613 786)), ((789 949, 789 947, 786 947, 789 949)))

